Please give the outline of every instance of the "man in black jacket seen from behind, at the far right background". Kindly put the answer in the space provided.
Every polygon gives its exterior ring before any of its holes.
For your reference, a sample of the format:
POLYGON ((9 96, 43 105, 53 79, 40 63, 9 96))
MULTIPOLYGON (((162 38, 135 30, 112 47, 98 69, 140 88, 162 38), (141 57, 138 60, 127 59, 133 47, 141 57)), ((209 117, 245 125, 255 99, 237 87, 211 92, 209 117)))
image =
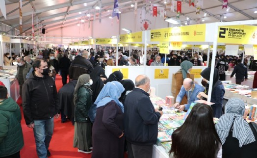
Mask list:
POLYGON ((244 66, 241 59, 238 59, 237 63, 238 64, 234 67, 230 78, 232 78, 235 74, 235 83, 241 84, 244 80, 247 80, 247 67, 244 66))

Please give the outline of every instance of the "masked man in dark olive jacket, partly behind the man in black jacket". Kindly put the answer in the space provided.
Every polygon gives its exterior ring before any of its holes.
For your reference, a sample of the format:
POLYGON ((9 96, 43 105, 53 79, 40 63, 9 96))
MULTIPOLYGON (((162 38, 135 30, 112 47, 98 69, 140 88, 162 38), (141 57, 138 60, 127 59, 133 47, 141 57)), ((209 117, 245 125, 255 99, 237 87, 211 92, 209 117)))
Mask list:
POLYGON ((20 85, 20 96, 22 96, 22 85, 25 82, 26 75, 29 72, 30 68, 32 68, 32 65, 26 63, 22 57, 18 57, 16 61, 18 62, 18 66, 15 80, 18 79, 18 83, 20 85))

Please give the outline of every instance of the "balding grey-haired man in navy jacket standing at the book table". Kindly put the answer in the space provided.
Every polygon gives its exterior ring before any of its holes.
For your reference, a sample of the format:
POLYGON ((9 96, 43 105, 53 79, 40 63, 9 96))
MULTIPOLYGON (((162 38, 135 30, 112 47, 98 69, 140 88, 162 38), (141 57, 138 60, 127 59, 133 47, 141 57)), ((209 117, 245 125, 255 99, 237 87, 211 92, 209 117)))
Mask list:
POLYGON ((151 84, 147 76, 137 76, 135 85, 124 103, 128 158, 152 158, 162 111, 154 109, 149 98, 151 84))

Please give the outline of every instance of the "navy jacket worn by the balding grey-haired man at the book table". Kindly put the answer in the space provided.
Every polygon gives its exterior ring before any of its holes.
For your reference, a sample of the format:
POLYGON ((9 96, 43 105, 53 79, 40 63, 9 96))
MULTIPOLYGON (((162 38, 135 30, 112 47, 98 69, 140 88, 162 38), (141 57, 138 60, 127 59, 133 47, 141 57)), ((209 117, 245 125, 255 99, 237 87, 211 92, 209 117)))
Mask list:
POLYGON ((155 112, 149 94, 140 88, 128 93, 124 103, 125 136, 135 145, 153 145, 157 141, 160 113, 155 112))

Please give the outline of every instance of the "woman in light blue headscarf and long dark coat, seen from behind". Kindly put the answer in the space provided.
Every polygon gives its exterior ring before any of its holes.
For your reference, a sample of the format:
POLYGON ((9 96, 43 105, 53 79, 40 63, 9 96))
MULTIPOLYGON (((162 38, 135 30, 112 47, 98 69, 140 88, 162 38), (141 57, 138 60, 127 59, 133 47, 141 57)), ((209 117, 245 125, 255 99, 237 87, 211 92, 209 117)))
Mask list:
POLYGON ((92 158, 124 157, 124 106, 119 101, 124 90, 120 82, 108 82, 97 97, 92 158))

